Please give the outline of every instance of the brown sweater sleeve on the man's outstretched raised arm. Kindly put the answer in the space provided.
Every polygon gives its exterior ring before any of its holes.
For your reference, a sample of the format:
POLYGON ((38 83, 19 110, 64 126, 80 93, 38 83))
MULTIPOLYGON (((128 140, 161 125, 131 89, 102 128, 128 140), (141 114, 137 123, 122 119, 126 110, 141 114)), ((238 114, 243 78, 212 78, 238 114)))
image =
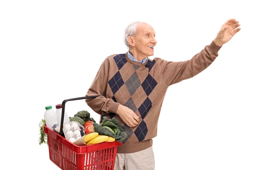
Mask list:
POLYGON ((160 68, 162 78, 166 85, 173 85, 182 80, 189 79, 204 71, 218 57, 218 51, 221 47, 217 46, 213 41, 210 45, 206 45, 201 52, 195 54, 192 59, 171 62, 159 59, 157 62, 160 68))

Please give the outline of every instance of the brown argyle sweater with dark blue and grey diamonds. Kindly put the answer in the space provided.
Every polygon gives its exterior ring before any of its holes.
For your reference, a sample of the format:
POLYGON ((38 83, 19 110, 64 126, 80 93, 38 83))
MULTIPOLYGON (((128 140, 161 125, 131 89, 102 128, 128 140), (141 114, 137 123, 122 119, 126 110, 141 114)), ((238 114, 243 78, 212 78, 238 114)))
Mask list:
POLYGON ((167 88, 206 69, 218 56, 220 48, 212 41, 192 59, 183 62, 147 58, 145 63, 139 63, 129 59, 127 53, 105 59, 86 94, 101 96, 86 99, 86 103, 108 119, 115 117, 127 132, 128 137, 118 147, 117 153, 134 153, 152 145, 167 88), (140 117, 137 127, 128 127, 115 114, 120 104, 140 117))

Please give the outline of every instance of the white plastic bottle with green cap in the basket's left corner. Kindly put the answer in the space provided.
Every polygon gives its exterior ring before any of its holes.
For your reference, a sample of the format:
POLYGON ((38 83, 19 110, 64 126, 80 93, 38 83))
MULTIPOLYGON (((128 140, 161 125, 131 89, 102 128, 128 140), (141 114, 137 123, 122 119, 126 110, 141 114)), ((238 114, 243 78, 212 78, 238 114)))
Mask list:
POLYGON ((44 120, 46 122, 46 126, 53 130, 52 126, 58 123, 56 112, 52 110, 52 106, 46 106, 45 109, 44 120))

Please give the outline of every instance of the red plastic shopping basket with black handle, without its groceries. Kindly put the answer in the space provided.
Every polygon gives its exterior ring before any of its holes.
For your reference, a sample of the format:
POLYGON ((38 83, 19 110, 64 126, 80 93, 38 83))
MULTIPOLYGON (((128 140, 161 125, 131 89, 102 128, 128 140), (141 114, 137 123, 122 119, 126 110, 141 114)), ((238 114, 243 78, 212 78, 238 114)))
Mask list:
POLYGON ((113 170, 117 147, 122 142, 102 142, 89 146, 77 146, 69 142, 63 133, 64 109, 67 101, 95 98, 85 96, 62 102, 60 134, 44 125, 47 134, 50 160, 62 170, 113 170))

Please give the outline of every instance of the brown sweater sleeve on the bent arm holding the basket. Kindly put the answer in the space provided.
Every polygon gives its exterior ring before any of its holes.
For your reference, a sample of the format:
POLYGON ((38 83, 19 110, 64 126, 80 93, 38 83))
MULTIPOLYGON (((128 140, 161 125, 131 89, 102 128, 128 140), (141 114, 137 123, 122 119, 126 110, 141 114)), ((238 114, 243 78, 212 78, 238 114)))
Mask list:
POLYGON ((108 113, 116 113, 119 103, 116 103, 111 98, 106 98, 106 90, 108 86, 108 71, 109 60, 108 58, 102 63, 99 71, 96 74, 93 83, 91 84, 85 96, 98 96, 93 99, 85 99, 87 105, 96 113, 105 115, 108 113))

